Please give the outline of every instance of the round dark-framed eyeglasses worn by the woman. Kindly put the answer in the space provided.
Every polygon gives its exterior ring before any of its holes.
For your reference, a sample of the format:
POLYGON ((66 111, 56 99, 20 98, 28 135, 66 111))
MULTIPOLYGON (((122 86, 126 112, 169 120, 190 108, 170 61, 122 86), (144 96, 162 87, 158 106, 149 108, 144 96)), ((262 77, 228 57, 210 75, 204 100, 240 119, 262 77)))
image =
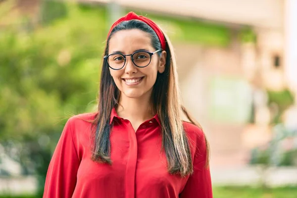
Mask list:
POLYGON ((143 68, 149 65, 151 56, 159 51, 161 51, 161 49, 158 49, 154 52, 138 50, 127 55, 122 53, 112 53, 104 56, 103 58, 107 61, 108 66, 114 70, 120 70, 125 66, 126 56, 131 56, 132 62, 135 64, 135 66, 143 68))

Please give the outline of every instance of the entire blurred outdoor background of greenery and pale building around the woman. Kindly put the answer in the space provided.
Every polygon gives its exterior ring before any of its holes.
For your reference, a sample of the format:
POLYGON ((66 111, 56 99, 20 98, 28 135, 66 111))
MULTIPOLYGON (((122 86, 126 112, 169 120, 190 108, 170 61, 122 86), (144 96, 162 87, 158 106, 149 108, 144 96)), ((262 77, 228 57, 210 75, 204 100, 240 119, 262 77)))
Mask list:
POLYGON ((173 42, 214 198, 297 198, 297 0, 0 0, 0 198, 41 198, 67 119, 96 109, 110 25, 173 42))

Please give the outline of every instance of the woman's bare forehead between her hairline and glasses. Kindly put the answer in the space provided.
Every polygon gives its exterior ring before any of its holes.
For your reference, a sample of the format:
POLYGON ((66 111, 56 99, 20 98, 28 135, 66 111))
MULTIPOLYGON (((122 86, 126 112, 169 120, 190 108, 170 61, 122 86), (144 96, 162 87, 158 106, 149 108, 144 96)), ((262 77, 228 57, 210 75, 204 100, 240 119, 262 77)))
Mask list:
POLYGON ((109 40, 109 54, 113 51, 128 54, 138 49, 153 50, 149 34, 141 30, 121 30, 113 34, 109 40))

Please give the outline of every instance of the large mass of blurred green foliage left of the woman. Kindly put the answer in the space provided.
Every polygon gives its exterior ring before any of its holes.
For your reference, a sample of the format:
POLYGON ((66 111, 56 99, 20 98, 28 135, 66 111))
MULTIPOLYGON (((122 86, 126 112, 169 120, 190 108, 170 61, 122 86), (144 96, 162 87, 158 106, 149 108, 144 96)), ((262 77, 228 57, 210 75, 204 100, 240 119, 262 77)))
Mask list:
POLYGON ((46 26, 0 32, 0 144, 37 174, 39 195, 67 118, 96 104, 106 35, 104 8, 48 1, 43 12, 46 26))

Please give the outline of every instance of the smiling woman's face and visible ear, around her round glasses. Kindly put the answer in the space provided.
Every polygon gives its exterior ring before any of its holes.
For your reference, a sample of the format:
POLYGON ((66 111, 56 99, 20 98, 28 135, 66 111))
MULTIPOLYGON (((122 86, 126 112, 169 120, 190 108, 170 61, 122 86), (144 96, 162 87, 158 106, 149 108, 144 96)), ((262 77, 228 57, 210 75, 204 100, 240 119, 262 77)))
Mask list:
MULTIPOLYGON (((154 52, 151 46, 151 39, 148 33, 138 29, 121 30, 113 34, 109 40, 108 54, 121 52, 122 54, 132 54, 137 50, 147 50, 154 52)), ((138 56, 144 58, 143 56, 138 56)), ((117 57, 113 57, 116 59, 117 57)), ((149 57, 148 57, 149 58, 149 57)), ((116 60, 121 59, 117 58, 116 60)), ((137 67, 131 60, 131 56, 126 56, 125 66, 120 70, 109 68, 110 74, 121 91, 123 97, 143 98, 150 97, 153 85, 156 81, 157 73, 163 73, 166 62, 166 51, 161 57, 155 53, 151 56, 151 61, 147 67, 137 67)))

